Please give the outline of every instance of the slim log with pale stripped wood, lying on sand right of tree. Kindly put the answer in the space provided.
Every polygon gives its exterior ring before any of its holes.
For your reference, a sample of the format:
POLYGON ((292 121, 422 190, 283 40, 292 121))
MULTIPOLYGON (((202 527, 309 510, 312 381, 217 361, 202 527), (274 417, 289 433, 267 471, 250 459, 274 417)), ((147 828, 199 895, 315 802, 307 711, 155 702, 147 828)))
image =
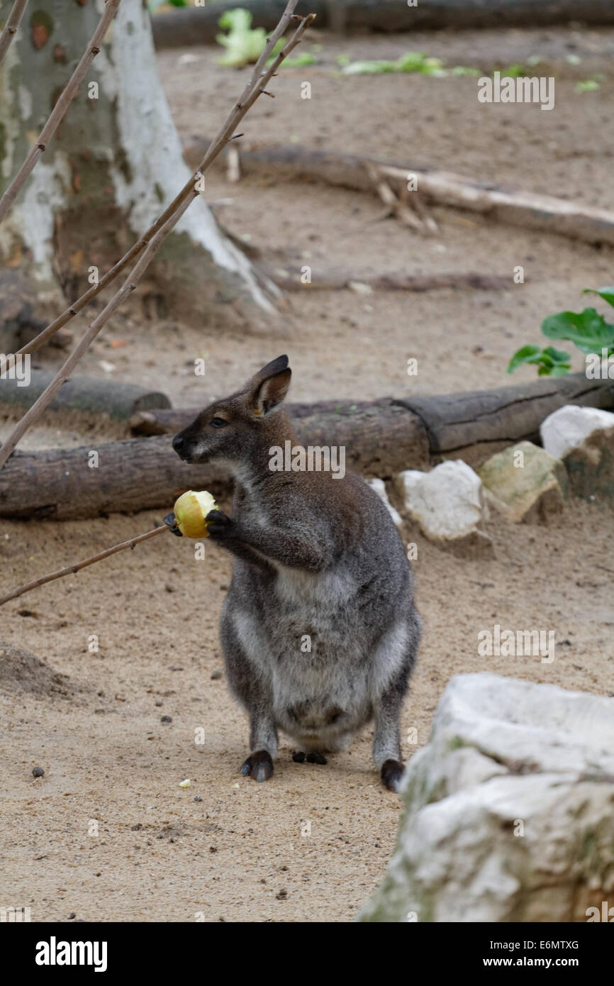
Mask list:
MULTIPOLYGON (((199 160, 207 140, 183 141, 188 164, 199 160)), ((326 184, 373 192, 374 184, 368 165, 389 178, 406 182, 416 177, 417 190, 425 200, 448 208, 468 210, 489 216, 497 222, 525 229, 556 233, 590 244, 614 244, 614 212, 579 202, 568 202, 552 195, 510 188, 490 181, 438 171, 415 165, 391 164, 375 158, 344 154, 342 151, 318 151, 296 145, 273 145, 265 148, 240 148, 241 172, 265 175, 274 181, 323 181, 326 184)))

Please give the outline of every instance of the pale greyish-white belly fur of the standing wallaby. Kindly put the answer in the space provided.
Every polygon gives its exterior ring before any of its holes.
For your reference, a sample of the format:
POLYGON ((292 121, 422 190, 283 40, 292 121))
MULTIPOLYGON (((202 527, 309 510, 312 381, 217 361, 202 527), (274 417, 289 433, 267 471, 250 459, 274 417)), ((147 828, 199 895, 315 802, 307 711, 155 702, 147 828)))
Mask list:
MULTIPOLYGON (((242 567, 239 563, 239 567, 242 567)), ((229 612, 239 644, 270 685, 276 725, 302 748, 342 748, 373 715, 407 647, 404 620, 367 651, 356 621, 359 585, 346 572, 275 564, 276 619, 229 612)), ((245 572, 247 574, 247 572, 245 572)))

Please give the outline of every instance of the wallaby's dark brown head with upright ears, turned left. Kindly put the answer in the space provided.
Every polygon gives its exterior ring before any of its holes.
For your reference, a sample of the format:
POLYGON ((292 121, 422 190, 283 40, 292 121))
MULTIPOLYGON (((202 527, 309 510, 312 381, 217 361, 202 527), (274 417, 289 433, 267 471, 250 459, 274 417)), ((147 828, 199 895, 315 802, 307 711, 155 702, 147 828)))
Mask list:
POLYGON ((216 400, 172 439, 184 462, 211 458, 241 463, 270 445, 283 444, 288 419, 279 405, 288 392, 292 371, 287 356, 278 356, 255 374, 241 390, 216 400))

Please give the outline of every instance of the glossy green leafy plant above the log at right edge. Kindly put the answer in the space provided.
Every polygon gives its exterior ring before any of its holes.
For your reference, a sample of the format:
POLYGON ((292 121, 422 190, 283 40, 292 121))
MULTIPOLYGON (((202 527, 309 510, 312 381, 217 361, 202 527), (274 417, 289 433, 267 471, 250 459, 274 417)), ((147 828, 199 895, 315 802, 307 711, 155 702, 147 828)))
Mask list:
MULTIPOLYGON (((603 301, 614 308, 614 287, 585 288, 583 295, 598 295, 603 301)), ((548 339, 566 339, 573 342, 581 353, 588 355, 596 353, 599 357, 614 355, 614 324, 605 320, 593 309, 583 309, 581 312, 559 312, 551 315, 541 323, 543 335, 548 339)), ((530 364, 538 367, 540 377, 563 377, 572 368, 571 356, 562 349, 554 346, 529 345, 522 346, 512 356, 508 365, 508 373, 519 366, 530 364)))

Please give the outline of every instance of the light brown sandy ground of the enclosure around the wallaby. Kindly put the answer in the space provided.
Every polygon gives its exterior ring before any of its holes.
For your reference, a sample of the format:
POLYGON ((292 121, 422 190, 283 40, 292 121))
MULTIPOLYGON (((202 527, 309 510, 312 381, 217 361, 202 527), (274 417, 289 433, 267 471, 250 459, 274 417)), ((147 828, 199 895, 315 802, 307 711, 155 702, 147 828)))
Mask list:
MULTIPOLYGON (((320 64, 280 75, 275 104, 255 107, 246 138, 298 138, 614 207, 613 84, 575 90, 578 78, 603 71, 614 33, 317 40, 320 64), (396 57, 410 48, 485 68, 543 53, 557 74, 556 107, 479 106, 469 78, 334 74, 338 53, 396 57), (580 66, 569 63, 570 52, 580 66), (305 78, 311 101, 298 95, 305 78)), ((211 134, 241 73, 221 74, 205 48, 163 52, 160 64, 181 133, 211 134), (197 60, 181 61, 184 54, 197 60)), ((84 373, 102 376, 100 362, 112 362, 117 379, 164 389, 177 406, 236 387, 283 351, 295 372, 294 399, 498 387, 510 383, 505 367, 515 348, 539 339, 543 317, 580 305, 581 288, 612 280, 609 249, 475 216, 437 211, 441 235, 422 240, 393 220, 377 221, 370 196, 307 184, 228 185, 219 174, 210 193, 233 197, 221 218, 265 256, 314 265, 342 258, 358 272, 511 274, 523 264, 527 280, 505 292, 294 295, 291 313, 269 332, 223 339, 207 326, 143 324, 130 314, 115 319, 84 373), (129 344, 112 349, 113 337, 129 344), (195 382, 188 364, 199 355, 208 374, 195 382), (411 381, 410 356, 419 360, 411 381)), ((531 378, 528 370, 516 375, 531 378)), ((77 425, 51 422, 24 447, 83 441, 77 425)), ((0 522, 0 591, 146 530, 163 513, 0 522)), ((445 682, 459 671, 612 694, 611 513, 575 501, 547 528, 492 521, 489 529, 496 544, 489 562, 449 557, 411 526, 404 531, 418 544, 425 620, 403 715, 403 735, 417 729, 418 745, 428 740, 445 682), (554 663, 479 658, 477 634, 496 623, 553 630, 554 663)), ((229 561, 215 545, 196 561, 191 544, 165 535, 3 609, 0 905, 30 906, 39 921, 348 921, 371 893, 393 846, 399 802, 377 782, 370 730, 326 766, 294 763, 282 742, 272 781, 238 776, 246 723, 215 674, 223 667, 217 627, 229 580, 229 561), (93 637, 98 650, 89 649, 93 637), (43 778, 34 780, 35 765, 43 778), (185 778, 191 786, 181 789, 185 778)), ((415 748, 405 742, 407 756, 415 748)))

